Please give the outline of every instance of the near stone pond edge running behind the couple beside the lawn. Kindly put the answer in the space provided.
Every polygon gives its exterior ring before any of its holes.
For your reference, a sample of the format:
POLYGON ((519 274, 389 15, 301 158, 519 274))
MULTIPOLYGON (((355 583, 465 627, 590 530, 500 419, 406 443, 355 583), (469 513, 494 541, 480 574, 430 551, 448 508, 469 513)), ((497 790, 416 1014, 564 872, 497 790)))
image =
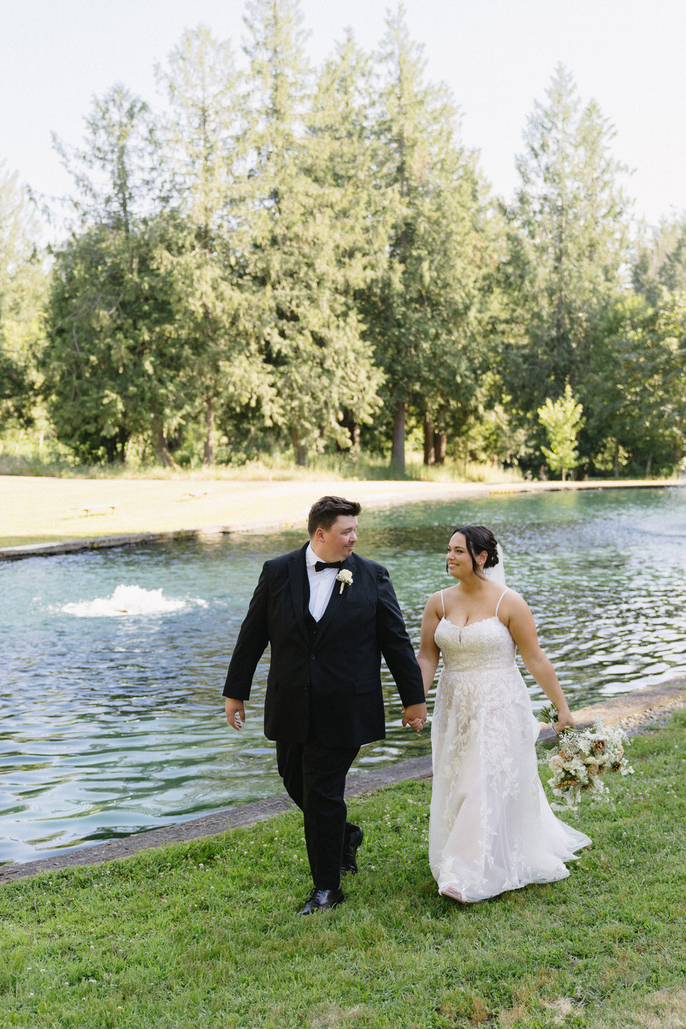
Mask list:
MULTIPOLYGON (((630 723, 633 720, 640 720, 641 716, 648 712, 658 716, 660 712, 665 712, 672 707, 684 705, 686 705, 686 675, 655 685, 642 686, 630 693, 620 694, 598 704, 580 708, 574 712, 574 718, 578 729, 590 725, 599 715, 607 724, 630 723)), ((551 744, 553 740, 554 732, 551 729, 541 730, 539 743, 551 744)), ((351 774, 348 778, 346 796, 371 793, 386 786, 431 777, 431 755, 410 757, 382 769, 351 774)), ((142 850, 164 847, 166 844, 187 843, 191 840, 218 836, 230 828, 255 825, 292 808, 293 803, 285 793, 253 804, 224 808, 202 818, 192 818, 163 828, 110 840, 104 844, 79 847, 64 854, 22 864, 0 866, 0 883, 78 865, 104 864, 107 861, 131 857, 142 850)))

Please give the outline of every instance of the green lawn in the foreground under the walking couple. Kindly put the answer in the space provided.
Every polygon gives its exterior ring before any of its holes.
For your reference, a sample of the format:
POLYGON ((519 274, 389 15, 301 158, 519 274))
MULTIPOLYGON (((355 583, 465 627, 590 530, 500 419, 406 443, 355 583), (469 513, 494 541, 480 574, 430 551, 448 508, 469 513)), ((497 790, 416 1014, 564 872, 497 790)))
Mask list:
POLYGON ((436 893, 427 782, 351 803, 360 874, 345 904, 306 919, 294 917, 310 889, 296 812, 8 883, 0 1025, 683 1025, 685 729, 680 713, 636 741, 616 811, 575 823, 593 846, 569 879, 469 908, 436 893))

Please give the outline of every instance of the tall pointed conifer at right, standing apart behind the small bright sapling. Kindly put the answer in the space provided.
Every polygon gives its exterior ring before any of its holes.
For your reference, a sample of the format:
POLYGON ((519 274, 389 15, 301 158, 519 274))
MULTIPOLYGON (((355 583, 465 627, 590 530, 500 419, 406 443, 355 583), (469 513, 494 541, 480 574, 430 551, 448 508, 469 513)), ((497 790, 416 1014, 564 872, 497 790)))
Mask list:
POLYGON ((504 351, 506 387, 520 411, 536 410, 589 364, 594 326, 622 288, 627 256, 626 171, 610 152, 614 130, 591 101, 581 107, 559 66, 536 103, 518 158, 520 187, 506 282, 523 330, 504 351))

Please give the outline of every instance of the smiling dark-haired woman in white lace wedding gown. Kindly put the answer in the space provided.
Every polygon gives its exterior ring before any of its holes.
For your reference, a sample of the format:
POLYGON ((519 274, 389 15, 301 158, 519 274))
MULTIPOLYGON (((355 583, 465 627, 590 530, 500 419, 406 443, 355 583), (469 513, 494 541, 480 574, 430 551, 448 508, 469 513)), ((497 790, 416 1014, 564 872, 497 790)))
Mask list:
POLYGON ((557 732, 574 720, 528 605, 505 587, 491 530, 457 529, 446 570, 457 582, 429 598, 418 655, 425 693, 443 655, 431 725, 429 863, 443 896, 472 903, 564 879, 564 862, 590 840, 555 817, 541 786, 539 724, 515 646, 557 708, 557 732), (489 569, 500 574, 488 577, 489 569))

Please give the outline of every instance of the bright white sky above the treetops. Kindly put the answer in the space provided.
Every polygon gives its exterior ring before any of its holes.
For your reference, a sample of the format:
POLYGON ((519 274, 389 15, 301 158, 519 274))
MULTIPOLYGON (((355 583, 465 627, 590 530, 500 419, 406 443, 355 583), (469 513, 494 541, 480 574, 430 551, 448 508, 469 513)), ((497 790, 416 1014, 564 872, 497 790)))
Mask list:
MULTIPOLYGON (((395 0, 393 3, 395 7, 395 0)), ((321 64, 352 27, 373 49, 387 0, 301 0, 308 50, 321 64)), ((511 199, 515 157, 557 64, 616 130, 614 156, 649 224, 686 213, 684 0, 405 0, 427 77, 450 87, 464 144, 496 193, 511 199)), ((154 66, 186 28, 240 50, 243 0, 0 0, 0 163, 39 194, 70 186, 51 134, 79 145, 94 96, 121 82, 153 106, 154 66)))

